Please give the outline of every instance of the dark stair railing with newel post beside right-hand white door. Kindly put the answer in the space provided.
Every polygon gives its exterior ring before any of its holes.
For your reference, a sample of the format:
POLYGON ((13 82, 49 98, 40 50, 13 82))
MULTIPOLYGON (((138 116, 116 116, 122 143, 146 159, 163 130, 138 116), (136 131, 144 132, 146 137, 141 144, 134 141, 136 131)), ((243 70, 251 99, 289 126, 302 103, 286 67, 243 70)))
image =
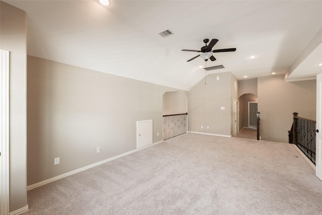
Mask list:
POLYGON ((293 124, 288 131, 288 142, 295 144, 315 165, 316 155, 316 121, 305 119, 293 113, 293 124))

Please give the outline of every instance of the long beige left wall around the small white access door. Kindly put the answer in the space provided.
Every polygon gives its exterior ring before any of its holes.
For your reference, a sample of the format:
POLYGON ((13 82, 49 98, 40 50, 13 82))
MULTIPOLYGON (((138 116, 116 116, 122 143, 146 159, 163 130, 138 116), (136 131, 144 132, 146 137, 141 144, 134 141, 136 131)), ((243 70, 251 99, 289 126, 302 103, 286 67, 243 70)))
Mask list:
POLYGON ((136 149, 136 121, 163 139, 168 87, 28 56, 27 88, 28 185, 136 149))

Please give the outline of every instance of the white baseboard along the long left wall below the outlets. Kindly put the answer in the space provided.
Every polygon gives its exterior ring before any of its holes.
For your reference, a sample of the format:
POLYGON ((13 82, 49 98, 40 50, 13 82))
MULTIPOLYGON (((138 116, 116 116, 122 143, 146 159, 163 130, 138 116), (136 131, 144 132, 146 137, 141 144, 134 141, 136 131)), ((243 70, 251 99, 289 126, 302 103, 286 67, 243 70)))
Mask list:
MULTIPOLYGON (((82 167, 82 168, 79 168, 79 169, 76 169, 76 170, 73 170, 73 171, 70 171, 70 172, 67 172, 67 173, 64 173, 64 174, 58 175, 58 176, 53 177, 53 178, 49 178, 49 179, 47 179, 47 180, 44 180, 44 181, 38 182, 38 183, 36 183, 36 184, 29 185, 29 186, 27 186, 27 190, 34 189, 34 188, 36 188, 36 187, 42 186, 42 185, 44 185, 44 184, 48 184, 48 183, 50 183, 50 182, 56 181, 56 180, 58 180, 58 179, 61 179, 61 178, 66 177, 66 176, 73 175, 73 174, 78 173, 78 172, 82 172, 82 171, 84 171, 84 170, 90 169, 90 168, 92 168, 92 167, 96 167, 96 166, 98 166, 98 165, 101 165, 101 164, 104 164, 104 163, 106 163, 106 162, 109 162, 109 161, 112 161, 112 160, 115 160, 115 159, 121 158, 121 157, 123 157, 123 156, 127 156, 127 155, 129 155, 129 154, 132 154, 132 153, 138 152, 138 151, 140 151, 140 150, 146 149, 146 148, 148 148, 148 147, 154 146, 154 145, 156 145, 156 144, 160 144, 161 142, 164 142, 164 141, 163 141, 163 140, 161 140, 161 141, 158 141, 158 142, 154 142, 153 144, 150 144, 150 145, 148 145, 148 146, 145 146, 145 147, 142 147, 142 148, 139 148, 139 149, 135 149, 135 150, 132 150, 132 151, 129 151, 129 152, 123 153, 123 154, 121 154, 121 155, 114 156, 114 157, 112 157, 112 158, 109 158, 109 159, 106 159, 106 160, 103 160, 103 161, 100 161, 100 162, 97 162, 97 163, 94 163, 94 164, 91 164, 91 165, 88 165, 88 166, 85 166, 85 167, 82 167)), ((11 215, 11 213, 10 213, 10 215, 11 215)))

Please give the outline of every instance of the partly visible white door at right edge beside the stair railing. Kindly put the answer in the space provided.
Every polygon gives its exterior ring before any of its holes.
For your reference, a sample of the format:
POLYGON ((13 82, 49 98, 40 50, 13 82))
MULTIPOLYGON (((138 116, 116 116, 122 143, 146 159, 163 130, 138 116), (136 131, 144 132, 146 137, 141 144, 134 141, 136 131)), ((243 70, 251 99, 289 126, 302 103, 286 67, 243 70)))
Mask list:
POLYGON ((316 176, 322 180, 322 73, 316 76, 316 176))

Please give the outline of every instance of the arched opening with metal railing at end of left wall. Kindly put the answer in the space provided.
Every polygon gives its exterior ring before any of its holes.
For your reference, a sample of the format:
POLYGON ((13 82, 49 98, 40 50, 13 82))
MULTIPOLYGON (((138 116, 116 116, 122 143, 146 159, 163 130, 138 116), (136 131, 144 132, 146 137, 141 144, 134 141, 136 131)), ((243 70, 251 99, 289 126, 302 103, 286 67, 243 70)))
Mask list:
POLYGON ((188 97, 172 90, 163 95, 163 140, 188 132, 188 97))

